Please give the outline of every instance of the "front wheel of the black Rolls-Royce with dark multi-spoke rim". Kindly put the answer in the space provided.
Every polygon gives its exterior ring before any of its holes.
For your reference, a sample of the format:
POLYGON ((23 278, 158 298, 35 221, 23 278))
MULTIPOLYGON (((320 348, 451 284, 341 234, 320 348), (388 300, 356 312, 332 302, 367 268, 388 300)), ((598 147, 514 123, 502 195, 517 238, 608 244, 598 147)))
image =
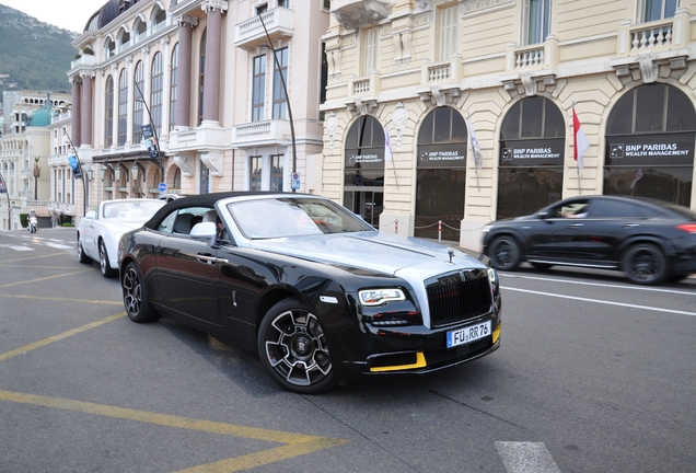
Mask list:
POLYGON ((286 390, 317 394, 336 384, 324 330, 299 299, 282 300, 266 313, 257 343, 262 365, 286 390))

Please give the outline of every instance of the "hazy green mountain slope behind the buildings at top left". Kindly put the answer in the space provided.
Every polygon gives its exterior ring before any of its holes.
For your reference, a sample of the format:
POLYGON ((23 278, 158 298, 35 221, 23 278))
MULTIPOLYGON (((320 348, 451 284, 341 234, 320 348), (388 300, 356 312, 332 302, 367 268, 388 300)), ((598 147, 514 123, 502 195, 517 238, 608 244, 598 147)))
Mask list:
POLYGON ((76 33, 0 4, 0 91, 70 91, 66 72, 78 53, 71 44, 74 37, 76 33))

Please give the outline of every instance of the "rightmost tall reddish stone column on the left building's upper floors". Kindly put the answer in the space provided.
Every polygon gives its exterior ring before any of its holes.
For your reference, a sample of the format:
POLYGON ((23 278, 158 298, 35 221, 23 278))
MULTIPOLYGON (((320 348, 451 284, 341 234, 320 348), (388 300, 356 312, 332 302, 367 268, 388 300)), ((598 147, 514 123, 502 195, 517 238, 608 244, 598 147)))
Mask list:
POLYGON ((208 16, 202 125, 220 126, 220 46, 222 14, 228 10, 228 2, 227 0, 205 0, 201 8, 208 16))

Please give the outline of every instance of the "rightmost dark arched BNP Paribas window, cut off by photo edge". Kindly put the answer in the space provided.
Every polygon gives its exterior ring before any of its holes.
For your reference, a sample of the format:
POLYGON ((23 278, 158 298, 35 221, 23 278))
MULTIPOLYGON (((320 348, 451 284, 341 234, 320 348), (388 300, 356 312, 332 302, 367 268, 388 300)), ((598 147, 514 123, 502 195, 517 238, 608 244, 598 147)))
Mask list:
POLYGON ((614 105, 606 126, 604 194, 691 206, 696 112, 675 86, 638 86, 614 105))

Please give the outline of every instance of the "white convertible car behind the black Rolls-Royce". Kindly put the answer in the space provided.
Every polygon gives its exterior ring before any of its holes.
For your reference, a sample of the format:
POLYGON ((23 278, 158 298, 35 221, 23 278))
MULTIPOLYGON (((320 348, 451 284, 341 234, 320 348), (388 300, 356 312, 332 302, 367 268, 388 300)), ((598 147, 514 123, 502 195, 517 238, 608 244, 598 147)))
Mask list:
POLYGON ((80 220, 78 261, 98 261, 104 277, 116 275, 120 235, 142 227, 164 205, 165 200, 146 198, 102 201, 80 220))

